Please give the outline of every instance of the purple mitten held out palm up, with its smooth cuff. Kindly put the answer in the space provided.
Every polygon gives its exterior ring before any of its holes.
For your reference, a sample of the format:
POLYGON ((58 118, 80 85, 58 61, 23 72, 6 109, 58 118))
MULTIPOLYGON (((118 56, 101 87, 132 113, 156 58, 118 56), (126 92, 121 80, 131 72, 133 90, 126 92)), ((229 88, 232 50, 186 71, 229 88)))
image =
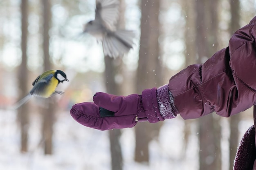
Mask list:
MULTIPOLYGON (((168 97, 168 103, 169 99, 168 97)), ((157 88, 146 89, 141 95, 128 96, 99 92, 94 95, 93 101, 94 103, 75 104, 70 110, 70 114, 77 122, 90 128, 99 130, 130 128, 140 121, 156 123, 169 118, 168 114, 165 114, 166 116, 160 114, 157 88)))

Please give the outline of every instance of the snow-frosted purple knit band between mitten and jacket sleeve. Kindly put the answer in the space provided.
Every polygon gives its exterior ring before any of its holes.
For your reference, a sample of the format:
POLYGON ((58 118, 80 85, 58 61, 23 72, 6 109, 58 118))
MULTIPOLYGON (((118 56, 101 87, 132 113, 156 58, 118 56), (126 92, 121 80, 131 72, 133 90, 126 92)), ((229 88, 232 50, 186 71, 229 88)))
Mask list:
POLYGON ((157 103, 164 119, 172 119, 177 116, 178 110, 174 105, 173 95, 168 89, 168 84, 157 88, 157 103))

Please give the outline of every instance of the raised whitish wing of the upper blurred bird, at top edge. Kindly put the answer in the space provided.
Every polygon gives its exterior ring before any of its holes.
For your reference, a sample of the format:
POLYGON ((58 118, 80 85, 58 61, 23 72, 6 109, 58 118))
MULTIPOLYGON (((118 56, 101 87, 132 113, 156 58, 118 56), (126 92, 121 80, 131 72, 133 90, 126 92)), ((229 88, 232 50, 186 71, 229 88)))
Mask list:
POLYGON ((119 0, 96 0, 95 20, 102 20, 111 31, 116 30, 119 17, 119 0))

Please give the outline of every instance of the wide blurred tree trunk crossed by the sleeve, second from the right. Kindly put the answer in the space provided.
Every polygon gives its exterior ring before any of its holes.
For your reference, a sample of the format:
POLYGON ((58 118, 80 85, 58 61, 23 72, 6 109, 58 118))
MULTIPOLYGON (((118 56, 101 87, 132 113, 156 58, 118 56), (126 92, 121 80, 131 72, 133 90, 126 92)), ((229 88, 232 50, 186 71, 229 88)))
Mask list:
MULTIPOLYGON (((204 62, 217 51, 218 0, 196 0, 196 45, 198 63, 204 62)), ((213 113, 214 114, 214 113, 213 113)), ((219 117, 213 114, 199 119, 200 170, 221 169, 221 128, 219 117)))

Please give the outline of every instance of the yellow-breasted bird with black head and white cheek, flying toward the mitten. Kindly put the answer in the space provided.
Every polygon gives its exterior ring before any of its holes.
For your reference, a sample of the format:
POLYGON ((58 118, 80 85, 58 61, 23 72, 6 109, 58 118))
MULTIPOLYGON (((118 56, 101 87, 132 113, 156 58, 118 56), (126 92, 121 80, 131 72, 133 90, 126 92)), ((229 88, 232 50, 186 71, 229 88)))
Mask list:
POLYGON ((35 81, 32 83, 33 88, 29 92, 27 96, 22 98, 19 102, 17 102, 14 106, 14 109, 19 108, 23 104, 27 103, 31 97, 41 97, 48 98, 51 97, 52 94, 58 93, 63 94, 63 91, 56 91, 56 87, 59 83, 63 83, 64 81, 68 82, 66 74, 61 70, 48 70, 43 74, 39 75, 35 81))

